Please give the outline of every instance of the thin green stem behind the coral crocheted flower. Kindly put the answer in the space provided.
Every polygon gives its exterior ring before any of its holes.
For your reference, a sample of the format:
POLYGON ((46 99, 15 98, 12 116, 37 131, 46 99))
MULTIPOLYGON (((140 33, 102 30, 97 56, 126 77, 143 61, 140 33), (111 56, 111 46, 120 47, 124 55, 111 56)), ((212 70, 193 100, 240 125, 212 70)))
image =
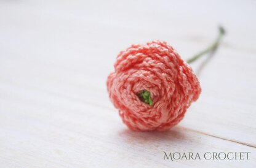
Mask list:
POLYGON ((206 53, 209 53, 209 52, 214 52, 217 49, 218 45, 220 44, 220 40, 222 39, 222 36, 225 34, 225 29, 222 26, 220 26, 218 30, 219 30, 219 34, 217 39, 214 41, 214 43, 209 47, 207 47, 205 50, 202 50, 202 52, 199 52, 197 55, 194 55, 190 59, 188 59, 186 61, 188 64, 193 63, 194 61, 196 61, 196 59, 200 58, 202 55, 205 55, 206 53))

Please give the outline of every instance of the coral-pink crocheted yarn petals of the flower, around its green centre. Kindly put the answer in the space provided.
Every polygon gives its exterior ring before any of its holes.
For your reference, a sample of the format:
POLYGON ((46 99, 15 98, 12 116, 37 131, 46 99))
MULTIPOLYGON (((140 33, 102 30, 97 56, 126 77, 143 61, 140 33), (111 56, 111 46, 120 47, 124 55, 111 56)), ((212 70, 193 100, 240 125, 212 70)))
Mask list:
POLYGON ((191 67, 159 40, 120 52, 106 85, 122 121, 135 131, 172 128, 201 93, 191 67), (150 103, 140 99, 142 91, 150 93, 150 103))

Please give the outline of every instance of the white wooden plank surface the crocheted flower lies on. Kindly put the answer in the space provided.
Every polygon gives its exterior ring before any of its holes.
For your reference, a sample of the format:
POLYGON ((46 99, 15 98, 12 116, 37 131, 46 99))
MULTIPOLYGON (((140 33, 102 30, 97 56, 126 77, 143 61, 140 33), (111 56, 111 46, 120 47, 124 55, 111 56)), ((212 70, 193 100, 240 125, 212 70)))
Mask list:
POLYGON ((256 167, 255 1, 0 1, 0 167, 256 167), (129 131, 106 93, 116 55, 166 40, 186 59, 228 34, 168 132, 129 131), (169 161, 167 152, 251 152, 169 161))

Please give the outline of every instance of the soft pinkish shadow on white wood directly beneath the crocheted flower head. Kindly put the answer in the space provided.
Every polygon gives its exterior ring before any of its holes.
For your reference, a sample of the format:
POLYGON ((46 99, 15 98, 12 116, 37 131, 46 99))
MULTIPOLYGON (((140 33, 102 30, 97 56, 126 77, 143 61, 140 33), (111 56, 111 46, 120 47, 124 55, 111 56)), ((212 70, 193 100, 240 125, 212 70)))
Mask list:
POLYGON ((157 158, 163 158, 164 152, 198 152, 206 145, 196 132, 182 126, 175 126, 163 132, 125 129, 118 132, 118 142, 119 148, 126 152, 157 158))

